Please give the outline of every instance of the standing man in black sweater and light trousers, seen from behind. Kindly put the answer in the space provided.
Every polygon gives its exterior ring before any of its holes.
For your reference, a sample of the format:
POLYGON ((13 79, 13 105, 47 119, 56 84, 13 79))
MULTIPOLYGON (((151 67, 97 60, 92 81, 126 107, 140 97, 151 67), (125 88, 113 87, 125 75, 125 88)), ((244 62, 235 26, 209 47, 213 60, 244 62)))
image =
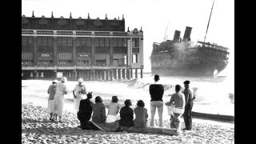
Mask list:
POLYGON ((159 75, 154 75, 154 84, 150 85, 150 113, 151 113, 151 121, 150 126, 154 126, 154 114, 156 108, 158 108, 158 118, 159 118, 159 127, 162 127, 162 111, 163 111, 163 102, 162 95, 164 93, 164 88, 162 84, 158 84, 160 80, 159 75))

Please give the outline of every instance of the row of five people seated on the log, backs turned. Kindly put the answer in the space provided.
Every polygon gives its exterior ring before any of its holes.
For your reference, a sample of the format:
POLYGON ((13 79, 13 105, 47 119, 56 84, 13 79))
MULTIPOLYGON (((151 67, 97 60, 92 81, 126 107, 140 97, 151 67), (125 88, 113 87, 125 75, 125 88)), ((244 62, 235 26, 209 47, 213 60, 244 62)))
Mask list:
POLYGON ((96 126, 100 123, 104 124, 100 126, 109 126, 109 128, 115 130, 118 130, 118 126, 146 127, 148 114, 146 108, 144 108, 145 103, 142 100, 137 102, 137 107, 133 110, 130 108, 132 105, 130 99, 126 99, 124 102, 125 106, 121 108, 118 104, 117 96, 113 96, 112 101, 106 106, 102 103, 100 96, 95 98, 95 103, 90 100, 91 98, 92 94, 89 93, 87 98, 82 99, 80 102, 78 111, 80 126, 78 127, 83 130, 98 130, 96 126), (108 109, 107 114, 106 108, 108 109), (120 114, 119 120, 117 117, 118 113, 120 114))

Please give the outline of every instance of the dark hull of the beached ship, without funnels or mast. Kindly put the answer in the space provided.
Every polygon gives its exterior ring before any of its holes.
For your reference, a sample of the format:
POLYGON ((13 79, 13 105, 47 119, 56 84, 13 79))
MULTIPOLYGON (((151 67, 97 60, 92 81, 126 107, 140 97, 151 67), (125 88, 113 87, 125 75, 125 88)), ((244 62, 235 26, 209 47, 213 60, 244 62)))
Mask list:
MULTIPOLYGON (((153 50, 159 50, 154 45, 153 50)), ((174 55, 166 47, 162 53, 153 51, 150 57, 151 73, 166 76, 214 76, 224 70, 228 64, 228 53, 210 47, 194 47, 194 55, 187 56, 192 51, 174 55)), ((175 52, 174 52, 175 53, 175 52)))

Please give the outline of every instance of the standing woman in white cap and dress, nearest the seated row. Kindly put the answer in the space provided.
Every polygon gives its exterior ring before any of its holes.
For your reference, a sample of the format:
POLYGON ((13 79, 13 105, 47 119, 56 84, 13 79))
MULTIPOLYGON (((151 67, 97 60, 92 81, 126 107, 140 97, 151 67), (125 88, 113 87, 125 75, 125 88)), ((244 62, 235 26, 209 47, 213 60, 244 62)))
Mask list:
POLYGON ((80 101, 83 99, 83 95, 86 93, 86 86, 83 84, 83 79, 78 79, 78 84, 74 86, 74 113, 77 114, 79 110, 80 101))

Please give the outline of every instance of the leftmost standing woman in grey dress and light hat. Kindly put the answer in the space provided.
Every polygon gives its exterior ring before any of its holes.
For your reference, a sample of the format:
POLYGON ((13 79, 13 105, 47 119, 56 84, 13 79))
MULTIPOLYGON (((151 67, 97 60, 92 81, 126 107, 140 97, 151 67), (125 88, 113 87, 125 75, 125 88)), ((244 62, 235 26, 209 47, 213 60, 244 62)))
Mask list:
POLYGON ((52 82, 52 85, 49 86, 47 93, 49 94, 48 97, 48 112, 50 114, 50 120, 53 121, 53 113, 54 113, 54 94, 56 92, 57 80, 55 79, 52 82))

